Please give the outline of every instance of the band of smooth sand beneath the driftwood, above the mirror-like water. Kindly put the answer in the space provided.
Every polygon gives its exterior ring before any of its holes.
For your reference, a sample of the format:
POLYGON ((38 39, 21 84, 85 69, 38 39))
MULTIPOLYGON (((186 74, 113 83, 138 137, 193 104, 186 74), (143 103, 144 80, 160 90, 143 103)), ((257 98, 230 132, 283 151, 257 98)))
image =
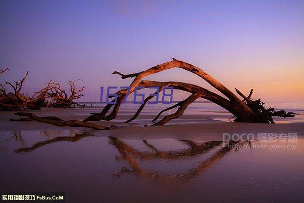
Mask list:
MULTIPOLYGON (((39 115, 54 115, 62 119, 83 119, 93 109, 44 109, 34 113, 39 115)), ((96 109, 94 109, 96 110, 96 109)), ((202 114, 189 114, 187 112, 177 119, 170 121, 164 126, 147 126, 144 124, 153 124, 151 119, 154 114, 143 113, 138 119, 131 123, 125 124, 124 120, 130 117, 129 111, 122 111, 117 119, 113 121, 94 121, 103 126, 117 126, 117 129, 96 131, 88 128, 72 128, 72 127, 56 127, 49 124, 39 123, 37 121, 9 121, 9 118, 18 118, 15 112, 3 112, 0 115, 1 132, 5 131, 75 131, 89 132, 97 136, 113 136, 128 139, 158 139, 158 138, 174 138, 188 140, 222 140, 223 133, 229 134, 249 134, 257 136, 258 133, 297 133, 298 136, 304 136, 304 123, 300 122, 303 115, 298 115, 297 123, 276 123, 276 124, 255 124, 255 123, 234 123, 221 121, 219 119, 228 119, 230 113, 222 113, 218 111, 202 111, 202 114), (128 112, 128 113, 127 113, 128 112)), ((172 113, 172 112, 171 112, 172 113)), ((286 118, 289 121, 292 119, 286 118)))

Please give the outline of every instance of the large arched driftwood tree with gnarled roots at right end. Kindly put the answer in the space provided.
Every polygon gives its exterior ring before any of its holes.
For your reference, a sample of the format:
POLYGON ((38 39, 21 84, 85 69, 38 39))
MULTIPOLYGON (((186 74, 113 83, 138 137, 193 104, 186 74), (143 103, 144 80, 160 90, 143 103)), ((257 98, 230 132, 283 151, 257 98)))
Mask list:
MULTIPOLYGON (((263 107, 263 102, 260 99, 252 100, 251 96, 253 90, 250 91, 249 96, 245 96, 239 90, 236 89, 237 94, 239 94, 242 99, 240 99, 236 94, 234 94, 231 90, 227 89, 221 83, 219 83, 214 77, 207 74, 205 71, 196 67, 192 64, 189 64, 184 61, 180 61, 174 59, 172 61, 156 65, 151 67, 147 70, 138 72, 138 73, 131 73, 131 74, 123 74, 118 71, 114 71, 112 74, 119 74, 121 75, 122 79, 135 77, 133 82, 130 85, 130 94, 134 92, 135 87, 140 86, 142 88, 148 87, 160 87, 160 91, 162 91, 165 87, 173 87, 174 89, 185 91, 191 93, 191 95, 183 101, 178 102, 177 104, 162 110, 153 121, 156 121, 159 116, 170 109, 177 108, 175 113, 166 115, 160 121, 153 125, 164 125, 168 123, 171 119, 177 118, 183 114, 184 110, 187 108, 189 104, 194 102, 198 98, 207 99, 227 111, 231 112, 235 119, 235 122, 248 122, 248 123, 274 123, 273 116, 278 117, 294 117, 295 113, 285 111, 275 111, 274 108, 265 109, 263 107), (189 72, 192 72, 202 79, 204 79, 207 83, 209 83, 212 87, 218 90, 221 94, 224 95, 220 96, 216 93, 213 93, 205 88, 202 88, 197 85, 181 83, 181 82, 157 82, 157 81, 149 81, 149 80, 142 80, 144 77, 155 74, 164 70, 172 69, 172 68, 182 68, 189 72)), ((117 102, 115 104, 107 104, 100 113, 91 113, 91 115, 85 118, 82 122, 87 123, 88 121, 100 121, 100 120, 112 120, 115 119, 119 108, 126 97, 127 89, 122 89, 117 92, 117 102), (112 108, 112 111, 108 113, 108 111, 112 108)), ((136 119, 136 117, 140 114, 141 110, 145 106, 148 100, 152 99, 153 96, 149 96, 144 100, 144 103, 139 107, 137 112, 132 116, 130 119, 126 121, 126 123, 136 119)), ((112 100, 114 101, 114 100, 112 100)), ((37 119, 35 119, 37 120, 37 119)), ((37 120, 39 121, 39 120, 37 120)), ((75 124, 78 125, 78 124, 75 124)), ((81 124, 83 125, 83 124, 81 124)), ((80 126, 78 126, 80 127, 80 126)))

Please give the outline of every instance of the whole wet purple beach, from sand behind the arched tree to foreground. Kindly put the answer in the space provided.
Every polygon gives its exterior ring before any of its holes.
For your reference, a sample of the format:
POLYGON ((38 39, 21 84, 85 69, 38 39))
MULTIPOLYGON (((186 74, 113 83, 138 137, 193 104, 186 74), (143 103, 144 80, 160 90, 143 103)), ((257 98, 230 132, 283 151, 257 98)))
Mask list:
MULTIPOLYGON (((100 109, 43 109, 38 115, 82 119, 100 109)), ((10 122, 0 114, 0 191, 65 192, 66 202, 301 202, 304 123, 230 123, 230 113, 189 110, 166 126, 148 126, 155 109, 130 124, 122 109, 118 129, 55 127, 10 122), (284 149, 252 148, 259 140, 230 148, 223 133, 297 133, 284 149), (293 149, 288 145, 295 146, 293 149)), ((172 112, 171 112, 172 113, 172 112)), ((283 122, 284 121, 284 122, 283 122)))

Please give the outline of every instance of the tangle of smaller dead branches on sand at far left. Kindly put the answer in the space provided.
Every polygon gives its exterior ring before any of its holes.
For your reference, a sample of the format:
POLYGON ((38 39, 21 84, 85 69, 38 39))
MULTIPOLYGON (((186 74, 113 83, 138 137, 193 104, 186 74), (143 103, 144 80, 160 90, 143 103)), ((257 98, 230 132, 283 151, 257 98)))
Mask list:
MULTIPOLYGON (((8 68, 0 70, 0 74, 8 71, 8 68)), ((80 99, 85 89, 76 87, 78 80, 69 80, 69 96, 65 90, 61 89, 60 84, 50 80, 46 87, 38 92, 34 92, 32 96, 27 93, 22 94, 22 85, 28 76, 26 71, 25 76, 20 81, 14 83, 5 82, 0 85, 0 110, 2 111, 20 111, 20 110, 40 110, 42 107, 84 107, 74 100, 80 99), (7 93, 5 85, 11 87, 14 92, 7 93)))

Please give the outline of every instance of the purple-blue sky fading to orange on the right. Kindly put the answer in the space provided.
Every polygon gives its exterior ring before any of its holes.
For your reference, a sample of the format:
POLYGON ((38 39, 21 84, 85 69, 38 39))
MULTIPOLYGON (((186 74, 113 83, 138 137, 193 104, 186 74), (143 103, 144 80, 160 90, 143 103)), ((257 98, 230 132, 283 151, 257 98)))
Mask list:
MULTIPOLYGON (((111 72, 139 72, 172 57, 232 91, 252 88, 253 99, 304 101, 304 1, 0 0, 0 68, 10 68, 0 82, 28 70, 24 91, 51 78, 83 79, 82 101, 98 101, 100 87, 132 82, 111 72)), ((216 92, 179 68, 146 79, 216 92)), ((186 96, 176 91, 173 100, 186 96)))

